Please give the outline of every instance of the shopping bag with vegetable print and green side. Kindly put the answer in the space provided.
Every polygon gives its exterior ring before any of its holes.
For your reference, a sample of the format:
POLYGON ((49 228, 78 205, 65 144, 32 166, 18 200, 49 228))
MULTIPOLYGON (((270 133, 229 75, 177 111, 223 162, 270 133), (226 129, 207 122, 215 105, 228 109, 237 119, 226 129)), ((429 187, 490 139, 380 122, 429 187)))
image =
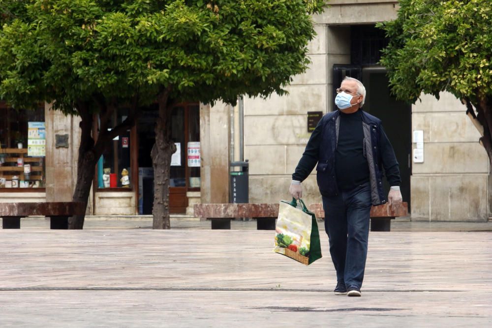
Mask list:
POLYGON ((318 223, 300 199, 300 207, 295 198, 292 202, 280 201, 275 229, 274 252, 310 265, 321 258, 318 223))

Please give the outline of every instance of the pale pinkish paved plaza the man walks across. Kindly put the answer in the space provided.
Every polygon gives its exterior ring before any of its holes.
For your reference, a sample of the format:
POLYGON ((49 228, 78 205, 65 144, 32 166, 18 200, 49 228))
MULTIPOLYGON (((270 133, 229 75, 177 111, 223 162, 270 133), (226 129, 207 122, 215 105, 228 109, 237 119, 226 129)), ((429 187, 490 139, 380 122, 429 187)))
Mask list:
POLYGON ((324 257, 306 267, 272 252, 274 233, 251 221, 230 231, 126 221, 50 231, 26 220, 0 231, 0 327, 492 326, 488 232, 400 231, 411 222, 371 232, 363 296, 349 298, 332 292, 324 233, 324 257))

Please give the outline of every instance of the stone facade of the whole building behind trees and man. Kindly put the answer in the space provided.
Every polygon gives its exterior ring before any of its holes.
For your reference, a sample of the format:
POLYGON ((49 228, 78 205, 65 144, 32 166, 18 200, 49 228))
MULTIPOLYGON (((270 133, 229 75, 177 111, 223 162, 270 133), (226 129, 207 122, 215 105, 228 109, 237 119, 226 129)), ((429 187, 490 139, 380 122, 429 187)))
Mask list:
MULTIPOLYGON (((199 132, 195 134, 199 133, 201 166, 193 171, 185 165, 186 156, 181 156, 183 168, 176 169, 185 174, 177 173, 183 177, 176 179, 173 187, 177 212, 191 214, 196 202, 229 202, 230 163, 244 159, 249 160, 250 203, 288 199, 291 174, 310 136, 307 113, 333 111, 334 89, 343 76, 350 75, 366 85, 368 97, 364 110, 383 120, 393 143, 402 173, 402 194, 410 204, 411 219, 486 221, 492 203, 489 161, 478 143, 479 133, 464 113, 464 106, 447 93, 441 94, 439 101, 422 95, 422 101, 415 105, 401 103, 391 96, 386 71, 377 64, 379 49, 385 43, 374 24, 394 19, 398 1, 331 0, 328 4, 330 7, 324 13, 313 17, 317 36, 309 44, 311 65, 305 74, 294 77, 286 88, 289 95, 245 98, 236 107, 220 102, 214 106, 184 106, 184 113, 199 114, 193 119, 186 116, 184 132, 175 137, 185 153, 186 144, 197 141, 189 132, 193 130, 190 121, 198 124, 199 132), (415 131, 423 136, 422 143, 414 142, 418 141, 413 139, 415 131), (423 149, 423 161, 414 158, 417 148, 423 149)), ((80 140, 78 118, 64 117, 46 105, 45 121, 45 188, 24 192, 0 190, 0 202, 71 199, 80 140), (68 147, 56 147, 56 135, 68 135, 68 147)), ((148 121, 152 122, 152 114, 148 121)), ((180 122, 178 119, 177 123, 180 122)), ((143 149, 145 145, 141 142, 133 142, 152 139, 139 132, 145 128, 137 125, 134 131, 128 132, 129 147, 134 149, 133 153, 138 150, 138 154, 120 163, 119 170, 123 165, 139 169, 148 166, 142 164, 148 149, 143 149)), ((122 140, 117 144, 120 145, 117 151, 122 151, 122 140)), ((101 173, 95 174, 100 178, 101 173)), ((136 170, 130 171, 133 183, 130 190, 118 187, 104 190, 94 184, 88 214, 141 213, 139 188, 143 184, 144 190, 149 191, 151 187, 145 179, 143 182, 137 179, 137 175, 136 170)), ((303 194, 307 204, 321 202, 314 170, 303 182, 303 194)), ((149 197, 147 194, 144 202, 148 203, 149 197)))

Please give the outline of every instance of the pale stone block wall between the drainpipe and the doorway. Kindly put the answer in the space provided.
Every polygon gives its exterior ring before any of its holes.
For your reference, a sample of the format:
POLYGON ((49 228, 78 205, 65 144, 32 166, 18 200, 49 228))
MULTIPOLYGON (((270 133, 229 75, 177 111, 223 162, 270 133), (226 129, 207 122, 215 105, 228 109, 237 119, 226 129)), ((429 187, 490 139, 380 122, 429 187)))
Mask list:
MULTIPOLYGON (((328 110, 327 28, 317 24, 315 30, 317 36, 309 44, 312 63, 306 73, 294 77, 286 88, 288 95, 245 98, 244 151, 249 159, 250 203, 289 199, 291 175, 310 136, 307 112, 328 110)), ((303 188, 306 202, 321 201, 314 174, 303 182, 303 188)))

